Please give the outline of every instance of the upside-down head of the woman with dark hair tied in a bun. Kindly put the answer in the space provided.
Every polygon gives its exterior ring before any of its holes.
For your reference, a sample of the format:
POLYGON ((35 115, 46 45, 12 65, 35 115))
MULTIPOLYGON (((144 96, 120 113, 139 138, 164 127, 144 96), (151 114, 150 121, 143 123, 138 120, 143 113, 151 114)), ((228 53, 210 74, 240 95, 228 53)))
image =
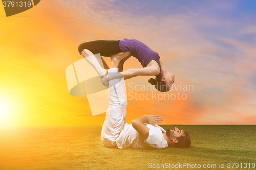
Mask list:
POLYGON ((173 83, 175 83, 175 75, 166 72, 165 74, 160 74, 156 76, 156 79, 149 79, 148 83, 155 85, 156 89, 161 92, 169 91, 173 83))

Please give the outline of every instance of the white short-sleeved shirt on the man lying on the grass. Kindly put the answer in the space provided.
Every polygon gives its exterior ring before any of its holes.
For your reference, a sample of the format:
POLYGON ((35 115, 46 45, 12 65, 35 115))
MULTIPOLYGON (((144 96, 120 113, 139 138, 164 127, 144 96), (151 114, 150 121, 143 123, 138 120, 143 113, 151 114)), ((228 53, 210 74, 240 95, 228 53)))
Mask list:
POLYGON ((168 143, 163 138, 165 130, 158 125, 146 124, 146 127, 150 128, 148 138, 144 140, 144 137, 139 134, 132 126, 132 124, 125 124, 121 131, 116 144, 118 148, 139 148, 139 149, 162 149, 167 148, 168 143))

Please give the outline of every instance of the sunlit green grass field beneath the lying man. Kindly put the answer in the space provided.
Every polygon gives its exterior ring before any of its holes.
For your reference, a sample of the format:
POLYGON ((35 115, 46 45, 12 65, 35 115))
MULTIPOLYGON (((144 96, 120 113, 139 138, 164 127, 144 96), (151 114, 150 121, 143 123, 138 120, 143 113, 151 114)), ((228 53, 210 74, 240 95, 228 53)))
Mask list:
POLYGON ((191 146, 187 149, 110 149, 100 141, 101 126, 1 126, 0 169, 161 169, 153 166, 165 163, 170 168, 163 169, 196 169, 195 164, 197 168, 200 164, 201 169, 204 164, 212 167, 216 164, 216 168, 205 169, 256 169, 256 165, 253 168, 256 163, 254 125, 162 127, 188 131, 191 146), (190 164, 191 168, 188 165, 172 168, 172 164, 179 163, 190 164), (225 168, 220 168, 220 163, 224 163, 225 168), (228 168, 228 163, 238 163, 239 167, 234 164, 232 168, 230 164, 228 168))

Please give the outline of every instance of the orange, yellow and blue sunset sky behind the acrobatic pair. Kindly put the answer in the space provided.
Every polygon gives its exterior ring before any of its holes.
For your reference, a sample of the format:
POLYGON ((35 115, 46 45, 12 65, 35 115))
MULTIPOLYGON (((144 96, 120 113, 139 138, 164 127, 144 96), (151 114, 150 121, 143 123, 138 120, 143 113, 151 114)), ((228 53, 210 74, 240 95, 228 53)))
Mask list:
POLYGON ((80 43, 124 37, 156 51, 176 87, 194 87, 166 93, 186 100, 136 100, 164 94, 141 89, 154 77, 125 80, 128 123, 158 114, 163 124, 256 124, 255 11, 255 1, 42 0, 6 17, 2 6, 0 125, 102 125, 87 97, 69 94, 65 71, 82 58, 80 43))

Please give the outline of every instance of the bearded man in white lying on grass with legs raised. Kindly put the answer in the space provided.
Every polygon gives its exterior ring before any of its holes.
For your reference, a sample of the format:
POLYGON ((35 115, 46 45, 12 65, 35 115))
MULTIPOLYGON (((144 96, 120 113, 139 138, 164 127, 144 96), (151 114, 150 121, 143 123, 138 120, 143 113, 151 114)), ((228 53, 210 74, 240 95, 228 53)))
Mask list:
MULTIPOLYGON (((109 69, 109 74, 118 74, 118 68, 109 69)), ((127 100, 123 79, 109 82, 109 108, 102 126, 101 141, 109 148, 162 149, 167 147, 187 148, 190 138, 186 131, 163 128, 158 115, 144 115, 135 118, 132 124, 126 122, 127 100)))

